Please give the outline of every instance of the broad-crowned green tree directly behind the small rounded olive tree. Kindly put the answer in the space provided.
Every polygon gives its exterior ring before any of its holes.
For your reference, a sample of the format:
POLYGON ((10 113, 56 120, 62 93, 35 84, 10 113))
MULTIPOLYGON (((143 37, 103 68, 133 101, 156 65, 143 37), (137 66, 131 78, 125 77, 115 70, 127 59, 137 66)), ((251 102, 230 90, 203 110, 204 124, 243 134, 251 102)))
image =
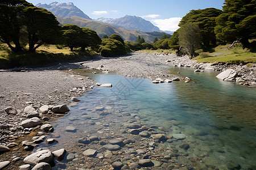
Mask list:
POLYGON ((182 27, 185 23, 191 22, 199 25, 201 39, 201 47, 208 50, 211 45, 216 45, 216 35, 214 27, 216 27, 216 17, 222 13, 216 8, 205 8, 203 10, 191 10, 185 15, 179 23, 182 27))

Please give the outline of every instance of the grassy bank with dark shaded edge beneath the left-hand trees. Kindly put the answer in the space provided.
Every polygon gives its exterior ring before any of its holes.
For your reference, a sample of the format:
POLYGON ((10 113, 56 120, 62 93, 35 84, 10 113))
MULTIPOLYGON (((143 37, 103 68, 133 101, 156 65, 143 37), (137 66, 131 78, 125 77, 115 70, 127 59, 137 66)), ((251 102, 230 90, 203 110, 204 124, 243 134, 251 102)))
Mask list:
POLYGON ((0 44, 0 69, 20 66, 43 66, 61 61, 77 61, 94 54, 96 53, 90 49, 86 49, 84 52, 78 50, 70 52, 68 48, 56 45, 42 45, 36 50, 36 53, 30 53, 27 50, 13 53, 5 45, 0 44))

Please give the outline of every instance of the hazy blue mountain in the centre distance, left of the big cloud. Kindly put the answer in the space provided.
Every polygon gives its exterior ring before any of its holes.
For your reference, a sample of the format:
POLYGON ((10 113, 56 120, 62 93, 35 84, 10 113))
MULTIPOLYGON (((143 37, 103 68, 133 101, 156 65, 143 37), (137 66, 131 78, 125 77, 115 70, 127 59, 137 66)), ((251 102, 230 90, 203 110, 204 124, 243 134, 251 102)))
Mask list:
POLYGON ((160 31, 158 27, 153 25, 148 20, 144 20, 139 16, 125 15, 122 18, 98 18, 97 21, 112 24, 115 27, 128 28, 128 29, 138 29, 143 32, 154 32, 160 31))

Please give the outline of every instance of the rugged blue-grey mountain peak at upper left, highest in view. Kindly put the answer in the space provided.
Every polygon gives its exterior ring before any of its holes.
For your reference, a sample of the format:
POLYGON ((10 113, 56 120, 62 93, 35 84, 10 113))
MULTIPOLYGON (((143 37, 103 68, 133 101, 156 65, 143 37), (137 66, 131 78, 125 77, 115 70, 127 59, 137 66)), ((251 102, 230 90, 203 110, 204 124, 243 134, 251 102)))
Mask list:
POLYGON ((88 15, 84 14, 78 7, 76 7, 72 2, 68 3, 59 3, 52 2, 49 5, 38 3, 36 5, 40 8, 46 8, 48 11, 51 11, 55 16, 61 17, 72 17, 72 16, 80 16, 85 19, 91 19, 88 15))

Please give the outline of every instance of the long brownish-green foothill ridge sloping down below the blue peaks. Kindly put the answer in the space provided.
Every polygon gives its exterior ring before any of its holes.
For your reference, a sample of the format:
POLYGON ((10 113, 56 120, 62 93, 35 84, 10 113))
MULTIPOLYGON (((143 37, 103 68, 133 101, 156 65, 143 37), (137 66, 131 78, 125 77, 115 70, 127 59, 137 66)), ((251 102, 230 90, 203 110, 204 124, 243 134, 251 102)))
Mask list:
POLYGON ((147 33, 144 33, 139 30, 117 28, 117 27, 114 27, 114 25, 112 24, 97 22, 95 20, 90 20, 90 19, 84 19, 80 16, 72 16, 68 18, 56 16, 56 18, 62 25, 75 24, 75 25, 78 25, 79 27, 86 27, 86 28, 93 29, 94 31, 97 32, 97 34, 100 37, 104 35, 110 36, 113 33, 117 33, 125 41, 131 41, 131 42, 135 42, 138 36, 143 37, 146 42, 153 42, 155 39, 155 36, 148 35, 147 33))

